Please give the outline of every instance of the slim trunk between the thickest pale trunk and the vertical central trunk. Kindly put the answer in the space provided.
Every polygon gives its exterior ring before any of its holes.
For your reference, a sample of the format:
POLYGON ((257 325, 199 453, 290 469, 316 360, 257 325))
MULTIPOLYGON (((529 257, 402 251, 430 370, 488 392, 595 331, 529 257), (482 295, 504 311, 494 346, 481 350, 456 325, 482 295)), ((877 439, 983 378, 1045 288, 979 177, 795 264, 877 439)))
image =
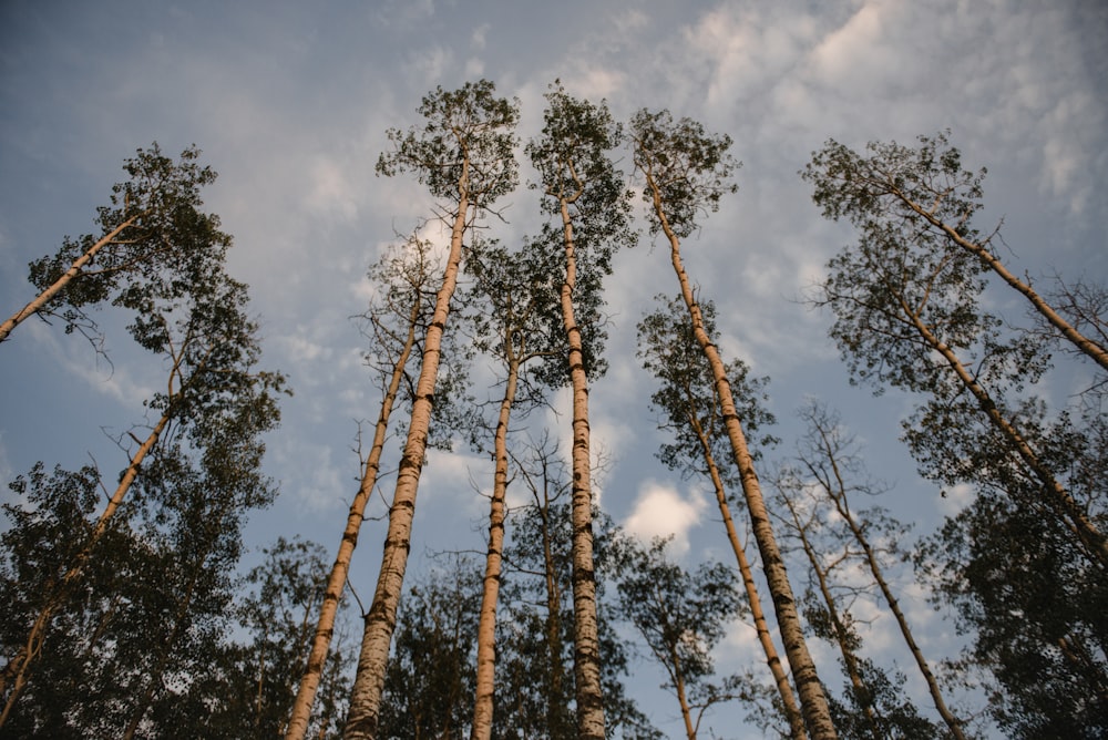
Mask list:
POLYGON ((496 598, 500 594, 501 562, 504 554, 504 497, 507 492, 507 424, 520 376, 520 359, 515 356, 511 337, 510 330, 504 341, 507 352, 507 383, 500 403, 494 441, 496 470, 493 475, 492 503, 489 512, 489 553, 485 558, 484 592, 481 596, 481 618, 478 623, 476 697, 473 702, 471 740, 489 740, 492 737, 496 598))

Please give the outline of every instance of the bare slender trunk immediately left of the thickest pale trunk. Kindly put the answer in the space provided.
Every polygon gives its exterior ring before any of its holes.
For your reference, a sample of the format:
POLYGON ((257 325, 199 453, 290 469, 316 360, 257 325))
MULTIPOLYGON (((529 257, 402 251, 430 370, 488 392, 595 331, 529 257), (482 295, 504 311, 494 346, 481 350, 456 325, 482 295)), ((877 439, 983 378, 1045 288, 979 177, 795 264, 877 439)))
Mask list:
POLYGON ((324 593, 324 602, 319 609, 319 621, 316 626, 316 635, 311 643, 311 651, 308 654, 308 662, 300 678, 297 688, 296 700, 293 703, 293 712, 289 717, 288 729, 285 732, 285 740, 304 740, 308 731, 308 722, 311 718, 311 706, 316 699, 316 691, 319 690, 319 682, 324 674, 324 665, 327 662, 327 651, 330 649, 331 637, 335 635, 335 616, 338 614, 339 603, 342 600, 342 589, 346 588, 347 576, 350 573, 350 559, 353 556, 355 547, 358 546, 358 533, 361 531, 361 523, 365 521, 366 504, 377 485, 377 475, 381 469, 381 453, 384 450, 384 438, 388 433, 389 417, 392 414, 392 405, 396 403, 397 394, 400 391, 400 382, 403 379, 404 367, 411 356, 412 347, 416 343, 416 325, 419 319, 420 297, 417 295, 412 300, 412 309, 408 321, 408 337, 404 339, 403 349, 400 351, 397 361, 392 367, 392 376, 389 378, 389 386, 381 401, 381 412, 377 419, 377 426, 373 430, 373 446, 369 451, 366 460, 366 470, 361 476, 361 485, 353 501, 350 502, 350 513, 347 515, 346 530, 342 532, 342 539, 339 542, 339 552, 335 556, 335 565, 331 566, 330 576, 327 578, 327 590, 324 593))

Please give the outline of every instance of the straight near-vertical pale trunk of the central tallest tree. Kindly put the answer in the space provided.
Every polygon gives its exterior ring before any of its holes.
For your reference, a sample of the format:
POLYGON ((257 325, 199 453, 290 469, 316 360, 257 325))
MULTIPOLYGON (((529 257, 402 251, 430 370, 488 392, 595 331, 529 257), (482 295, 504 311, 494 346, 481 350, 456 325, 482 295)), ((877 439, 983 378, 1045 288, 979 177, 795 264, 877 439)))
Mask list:
POLYGON ((588 443, 588 378, 585 374, 581 327, 573 311, 577 280, 570 201, 561 197, 565 280, 562 282, 562 321, 570 343, 573 387, 573 616, 574 678, 577 698, 577 736, 604 738, 604 696, 601 687, 601 647, 596 617, 596 579, 593 565, 593 490, 588 443))

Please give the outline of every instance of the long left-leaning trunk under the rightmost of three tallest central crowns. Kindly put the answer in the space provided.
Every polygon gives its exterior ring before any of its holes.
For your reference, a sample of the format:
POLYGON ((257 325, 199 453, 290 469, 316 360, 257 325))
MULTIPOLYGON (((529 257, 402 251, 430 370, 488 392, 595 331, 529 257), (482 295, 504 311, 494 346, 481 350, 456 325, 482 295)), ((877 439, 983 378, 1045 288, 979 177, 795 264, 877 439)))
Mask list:
POLYGON ((786 571, 784 561, 781 558, 781 551, 773 536, 773 527, 766 508, 766 501, 762 496, 761 485, 758 482, 758 474, 755 472, 753 461, 747 448, 742 424, 735 410, 731 386, 727 380, 727 372, 719 357, 719 351, 704 328, 700 307, 696 302, 688 275, 681 265, 680 239, 677 238, 677 235, 669 226, 669 220, 666 218, 661 205, 661 193, 649 174, 647 174, 647 187, 652 191, 654 212, 661 225, 663 232, 669 239, 674 271, 677 275, 677 281, 680 284, 685 305, 689 310, 694 336, 704 350, 705 357, 708 359, 712 377, 716 381, 716 392, 719 394, 727 436, 731 443, 731 451, 735 454, 735 463, 739 469, 742 494, 747 502, 747 510, 750 512, 750 522, 755 541, 758 543, 758 551, 761 554, 766 580, 769 584, 770 594, 773 596, 777 624, 781 631, 781 639, 784 641, 784 651, 792 668, 793 679, 797 682, 797 692, 800 695, 800 705, 804 715, 804 721, 809 733, 814 740, 831 740, 837 737, 834 726, 831 722, 831 710, 828 707, 823 687, 820 685, 815 662, 812 660, 812 656, 808 651, 808 645, 804 641, 800 616, 797 613, 797 603, 792 595, 792 587, 789 585, 789 574, 786 571))

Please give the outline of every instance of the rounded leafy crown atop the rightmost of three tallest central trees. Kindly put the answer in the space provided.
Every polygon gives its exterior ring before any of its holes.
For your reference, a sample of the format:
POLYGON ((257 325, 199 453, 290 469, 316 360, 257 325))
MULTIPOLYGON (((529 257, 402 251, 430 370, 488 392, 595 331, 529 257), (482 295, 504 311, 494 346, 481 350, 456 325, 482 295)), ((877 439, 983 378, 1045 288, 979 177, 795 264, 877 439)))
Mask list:
MULTIPOLYGON (((720 198, 735 193, 731 182, 741 166, 727 150, 731 137, 709 134, 691 119, 674 121, 669 111, 650 113, 643 109, 632 117, 635 168, 654 183, 669 227, 678 238, 699 228, 697 218, 719 209, 720 198)), ((648 187, 643 199, 650 205, 650 233, 661 230, 653 213, 654 194, 648 187)))

